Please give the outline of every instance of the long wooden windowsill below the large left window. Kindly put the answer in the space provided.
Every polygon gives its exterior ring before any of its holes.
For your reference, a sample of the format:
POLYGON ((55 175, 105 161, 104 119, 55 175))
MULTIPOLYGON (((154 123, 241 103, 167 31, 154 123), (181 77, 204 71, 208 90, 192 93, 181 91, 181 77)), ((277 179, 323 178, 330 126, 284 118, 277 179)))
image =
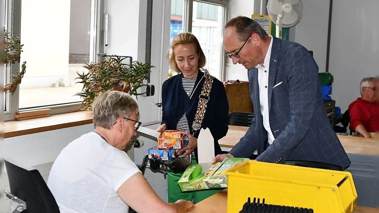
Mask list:
POLYGON ((4 122, 4 138, 92 124, 92 111, 76 111, 49 117, 4 122))

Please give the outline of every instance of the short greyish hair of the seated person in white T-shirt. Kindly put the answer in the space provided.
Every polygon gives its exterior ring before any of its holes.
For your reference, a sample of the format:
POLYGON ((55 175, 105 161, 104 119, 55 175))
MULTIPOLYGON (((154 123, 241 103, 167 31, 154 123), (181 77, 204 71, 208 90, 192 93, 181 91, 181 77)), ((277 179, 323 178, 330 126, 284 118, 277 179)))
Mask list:
POLYGON ((125 92, 107 91, 92 103, 94 127, 111 129, 117 118, 138 113, 137 102, 125 92))

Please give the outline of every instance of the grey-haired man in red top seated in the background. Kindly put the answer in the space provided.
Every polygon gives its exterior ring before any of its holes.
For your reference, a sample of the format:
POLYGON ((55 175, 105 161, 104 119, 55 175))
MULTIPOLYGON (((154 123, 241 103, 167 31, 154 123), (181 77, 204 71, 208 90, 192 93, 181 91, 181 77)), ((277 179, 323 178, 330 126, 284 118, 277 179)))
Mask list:
POLYGON ((359 132, 365 138, 370 138, 370 132, 376 132, 375 78, 363 78, 360 82, 360 94, 349 105, 350 129, 359 132))

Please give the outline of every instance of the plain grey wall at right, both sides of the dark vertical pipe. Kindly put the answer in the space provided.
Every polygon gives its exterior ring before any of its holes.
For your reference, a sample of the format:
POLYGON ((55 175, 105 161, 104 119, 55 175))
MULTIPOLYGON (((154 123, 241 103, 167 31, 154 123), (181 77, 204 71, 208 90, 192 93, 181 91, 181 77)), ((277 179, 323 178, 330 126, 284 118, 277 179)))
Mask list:
MULTIPOLYGON (((303 16, 290 29, 290 40, 313 50, 319 72, 325 72, 329 2, 302 0, 303 16)), ((360 97, 363 77, 379 74, 379 24, 374 23, 378 0, 334 0, 329 72, 334 76, 332 99, 344 112, 360 97)))

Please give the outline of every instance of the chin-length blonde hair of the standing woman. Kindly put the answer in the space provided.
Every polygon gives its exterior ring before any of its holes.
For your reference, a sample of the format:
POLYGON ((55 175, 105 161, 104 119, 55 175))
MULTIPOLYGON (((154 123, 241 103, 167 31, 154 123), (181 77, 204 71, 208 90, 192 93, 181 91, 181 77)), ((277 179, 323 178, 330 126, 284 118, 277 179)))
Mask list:
POLYGON ((172 70, 174 70, 177 73, 182 72, 176 64, 174 51, 172 51, 179 44, 195 45, 196 53, 197 55, 199 55, 198 67, 203 68, 205 66, 207 60, 205 59, 204 52, 201 49, 200 43, 197 40, 196 36, 194 36, 194 34, 192 33, 179 33, 174 37, 174 39, 172 39, 172 44, 170 46, 171 52, 169 53, 169 61, 172 70))

